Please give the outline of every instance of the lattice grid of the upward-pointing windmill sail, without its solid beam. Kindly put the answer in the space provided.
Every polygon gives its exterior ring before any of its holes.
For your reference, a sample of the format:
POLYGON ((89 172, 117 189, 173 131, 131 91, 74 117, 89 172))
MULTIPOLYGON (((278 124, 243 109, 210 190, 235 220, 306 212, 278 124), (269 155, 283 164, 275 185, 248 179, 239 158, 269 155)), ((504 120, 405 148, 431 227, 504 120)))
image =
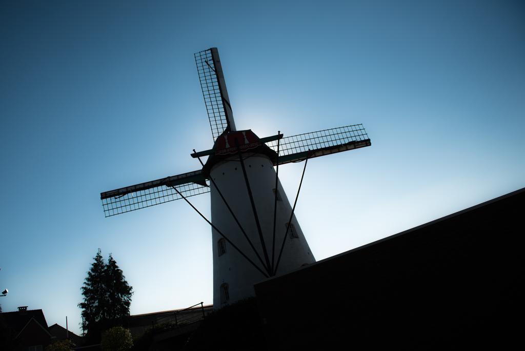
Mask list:
POLYGON ((228 127, 222 92, 220 91, 217 70, 212 56, 212 49, 195 54, 198 79, 201 82, 202 95, 209 126, 212 128, 213 141, 228 127))

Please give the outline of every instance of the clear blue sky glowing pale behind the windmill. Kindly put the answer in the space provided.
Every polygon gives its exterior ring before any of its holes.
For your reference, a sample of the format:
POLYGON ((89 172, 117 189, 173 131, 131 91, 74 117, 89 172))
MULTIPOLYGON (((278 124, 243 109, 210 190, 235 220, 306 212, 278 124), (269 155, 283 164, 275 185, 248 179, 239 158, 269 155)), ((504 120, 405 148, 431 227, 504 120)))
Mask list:
MULTIPOLYGON (((211 229, 185 202, 104 218, 99 199, 199 168, 193 54, 212 46, 237 129, 372 139, 308 163, 296 215, 318 260, 524 187, 524 18, 521 1, 2 3, 2 308, 78 333, 99 247, 132 314, 212 303, 211 229)), ((301 171, 279 170, 291 199, 301 171)))

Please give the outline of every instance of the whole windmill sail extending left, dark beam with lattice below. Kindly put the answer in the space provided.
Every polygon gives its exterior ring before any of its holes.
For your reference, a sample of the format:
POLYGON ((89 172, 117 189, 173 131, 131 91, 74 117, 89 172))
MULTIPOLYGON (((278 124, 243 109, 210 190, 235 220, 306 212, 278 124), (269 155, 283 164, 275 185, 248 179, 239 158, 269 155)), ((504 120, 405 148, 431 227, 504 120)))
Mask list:
POLYGON ((100 193, 104 215, 110 217, 182 199, 174 188, 180 191, 184 197, 209 192, 209 185, 206 183, 201 170, 178 174, 177 176, 100 193))

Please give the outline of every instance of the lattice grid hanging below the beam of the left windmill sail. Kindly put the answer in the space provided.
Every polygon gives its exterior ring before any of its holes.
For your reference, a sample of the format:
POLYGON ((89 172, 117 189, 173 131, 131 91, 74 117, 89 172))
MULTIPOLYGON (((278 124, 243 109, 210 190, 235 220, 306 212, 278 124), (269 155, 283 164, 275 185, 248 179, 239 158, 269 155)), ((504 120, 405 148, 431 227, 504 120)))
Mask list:
MULTIPOLYGON (((205 187, 201 184, 185 183, 175 185, 175 188, 180 191, 185 198, 189 198, 209 192, 209 184, 206 184, 207 186, 205 187)), ((179 199, 182 199, 182 197, 173 187, 160 185, 159 187, 125 193, 117 197, 104 198, 102 199, 102 207, 104 209, 104 215, 110 217, 179 199)))

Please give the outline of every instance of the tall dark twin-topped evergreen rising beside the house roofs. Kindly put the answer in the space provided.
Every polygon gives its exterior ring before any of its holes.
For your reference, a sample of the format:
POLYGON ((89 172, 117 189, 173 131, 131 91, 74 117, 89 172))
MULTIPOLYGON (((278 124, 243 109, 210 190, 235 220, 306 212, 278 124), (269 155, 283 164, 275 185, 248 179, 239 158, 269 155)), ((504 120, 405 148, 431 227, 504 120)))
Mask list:
POLYGON ((111 254, 108 264, 104 263, 100 249, 93 259, 95 262, 81 287, 83 302, 78 306, 82 308, 82 329, 89 342, 98 343, 102 331, 129 316, 133 292, 111 254))

